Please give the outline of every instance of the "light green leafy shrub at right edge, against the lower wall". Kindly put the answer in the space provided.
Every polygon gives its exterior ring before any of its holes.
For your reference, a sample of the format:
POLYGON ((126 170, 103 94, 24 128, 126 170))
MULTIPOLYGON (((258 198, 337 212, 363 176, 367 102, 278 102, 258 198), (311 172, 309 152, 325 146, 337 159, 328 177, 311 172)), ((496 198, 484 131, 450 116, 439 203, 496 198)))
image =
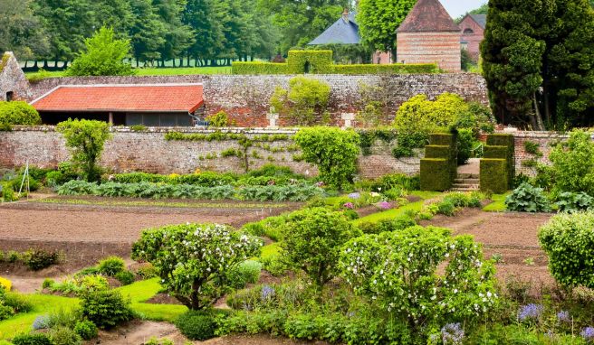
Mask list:
POLYGON ((566 143, 552 148, 549 160, 552 166, 546 173, 554 194, 583 191, 594 195, 594 143, 588 132, 572 132, 566 143))

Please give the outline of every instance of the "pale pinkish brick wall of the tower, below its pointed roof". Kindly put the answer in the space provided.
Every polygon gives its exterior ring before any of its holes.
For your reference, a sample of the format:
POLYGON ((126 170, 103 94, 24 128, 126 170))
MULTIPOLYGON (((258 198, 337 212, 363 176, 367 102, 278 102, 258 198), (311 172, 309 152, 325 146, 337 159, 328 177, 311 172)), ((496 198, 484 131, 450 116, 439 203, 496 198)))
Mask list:
POLYGON ((442 70, 461 71, 460 33, 398 33, 397 41, 397 62, 436 62, 442 70))

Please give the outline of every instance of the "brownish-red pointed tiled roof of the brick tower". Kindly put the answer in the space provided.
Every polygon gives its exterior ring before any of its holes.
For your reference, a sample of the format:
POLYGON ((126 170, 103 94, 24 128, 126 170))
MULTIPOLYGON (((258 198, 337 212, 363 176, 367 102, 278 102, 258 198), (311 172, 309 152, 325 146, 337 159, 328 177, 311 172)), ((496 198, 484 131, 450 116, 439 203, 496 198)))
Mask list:
POLYGON ((458 32, 460 27, 447 14, 439 0, 418 0, 407 18, 398 27, 397 33, 442 33, 458 32))

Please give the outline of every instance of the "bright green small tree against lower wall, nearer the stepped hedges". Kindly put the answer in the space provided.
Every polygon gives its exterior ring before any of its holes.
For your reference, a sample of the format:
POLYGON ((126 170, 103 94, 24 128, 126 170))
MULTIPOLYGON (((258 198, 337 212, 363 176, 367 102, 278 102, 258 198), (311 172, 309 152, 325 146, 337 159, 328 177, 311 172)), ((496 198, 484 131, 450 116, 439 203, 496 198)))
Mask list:
POLYGON ((337 188, 352 182, 359 156, 357 133, 334 127, 312 127, 301 129, 294 140, 301 146, 305 161, 318 167, 323 182, 337 188))

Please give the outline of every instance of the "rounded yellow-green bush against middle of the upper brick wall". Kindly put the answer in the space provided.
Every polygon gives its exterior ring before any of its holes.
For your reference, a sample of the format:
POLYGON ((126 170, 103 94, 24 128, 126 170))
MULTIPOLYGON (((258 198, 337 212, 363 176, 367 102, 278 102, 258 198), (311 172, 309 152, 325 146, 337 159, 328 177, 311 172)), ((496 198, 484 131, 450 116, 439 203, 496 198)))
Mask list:
POLYGON ((283 117, 300 126, 319 124, 327 117, 330 86, 318 79, 294 77, 289 80, 289 89, 277 88, 271 105, 283 117))

